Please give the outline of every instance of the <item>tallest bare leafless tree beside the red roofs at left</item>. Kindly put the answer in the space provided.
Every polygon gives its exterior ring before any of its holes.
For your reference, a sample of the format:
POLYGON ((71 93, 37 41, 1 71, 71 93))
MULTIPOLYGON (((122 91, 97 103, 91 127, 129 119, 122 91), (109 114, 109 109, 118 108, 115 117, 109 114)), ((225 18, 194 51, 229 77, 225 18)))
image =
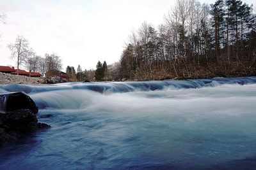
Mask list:
POLYGON ((29 48, 28 40, 22 36, 18 36, 14 44, 8 45, 12 54, 11 59, 17 59, 17 74, 19 75, 19 65, 26 62, 26 59, 33 55, 32 48, 29 48))

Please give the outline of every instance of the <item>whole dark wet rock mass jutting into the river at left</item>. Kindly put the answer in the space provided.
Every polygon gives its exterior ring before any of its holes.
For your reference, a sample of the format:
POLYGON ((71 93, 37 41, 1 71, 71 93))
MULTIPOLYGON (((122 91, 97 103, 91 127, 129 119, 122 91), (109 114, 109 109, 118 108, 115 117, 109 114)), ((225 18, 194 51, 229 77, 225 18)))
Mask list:
POLYGON ((0 94, 0 146, 51 127, 38 123, 35 102, 24 92, 0 94))

